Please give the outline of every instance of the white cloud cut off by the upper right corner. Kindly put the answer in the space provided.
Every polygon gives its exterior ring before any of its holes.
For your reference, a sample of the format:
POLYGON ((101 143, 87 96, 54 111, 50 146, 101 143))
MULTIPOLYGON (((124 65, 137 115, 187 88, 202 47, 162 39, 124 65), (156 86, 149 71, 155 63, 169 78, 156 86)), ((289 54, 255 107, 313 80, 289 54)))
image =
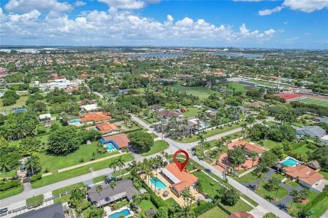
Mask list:
POLYGON ((285 0, 283 6, 289 7, 292 10, 298 10, 306 13, 312 13, 316 10, 328 8, 327 0, 285 0))

